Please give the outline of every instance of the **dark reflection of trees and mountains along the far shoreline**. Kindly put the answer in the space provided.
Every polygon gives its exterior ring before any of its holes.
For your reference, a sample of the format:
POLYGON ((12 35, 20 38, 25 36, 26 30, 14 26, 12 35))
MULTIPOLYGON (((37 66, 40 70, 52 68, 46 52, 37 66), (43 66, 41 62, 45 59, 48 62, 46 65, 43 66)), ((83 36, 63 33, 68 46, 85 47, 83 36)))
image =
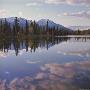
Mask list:
POLYGON ((87 42, 90 41, 89 37, 75 37, 71 39, 71 37, 3 37, 0 38, 0 51, 7 53, 9 50, 15 50, 15 54, 18 55, 19 50, 26 49, 26 52, 29 50, 30 52, 35 52, 38 47, 40 48, 48 48, 54 46, 55 44, 59 44, 61 42, 65 42, 68 40, 73 41, 81 41, 87 42))

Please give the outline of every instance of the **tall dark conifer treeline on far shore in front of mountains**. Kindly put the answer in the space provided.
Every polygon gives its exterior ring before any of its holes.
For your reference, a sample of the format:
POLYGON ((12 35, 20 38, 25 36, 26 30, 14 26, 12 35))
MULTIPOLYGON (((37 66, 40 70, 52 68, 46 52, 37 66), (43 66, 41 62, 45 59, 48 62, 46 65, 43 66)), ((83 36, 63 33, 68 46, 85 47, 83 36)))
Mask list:
POLYGON ((67 28, 39 26, 35 21, 28 23, 26 20, 25 26, 19 24, 18 18, 14 20, 14 24, 10 24, 7 19, 0 21, 0 36, 21 36, 21 35, 48 35, 48 36, 59 36, 71 34, 67 28))

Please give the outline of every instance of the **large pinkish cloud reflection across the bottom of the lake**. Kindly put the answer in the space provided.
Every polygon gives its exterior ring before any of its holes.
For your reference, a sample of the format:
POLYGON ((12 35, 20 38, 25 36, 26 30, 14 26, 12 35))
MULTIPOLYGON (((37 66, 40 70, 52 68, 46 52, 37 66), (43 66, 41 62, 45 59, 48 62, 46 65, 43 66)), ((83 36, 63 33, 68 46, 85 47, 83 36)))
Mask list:
POLYGON ((90 89, 90 61, 45 64, 34 77, 0 80, 0 90, 81 90, 90 89))

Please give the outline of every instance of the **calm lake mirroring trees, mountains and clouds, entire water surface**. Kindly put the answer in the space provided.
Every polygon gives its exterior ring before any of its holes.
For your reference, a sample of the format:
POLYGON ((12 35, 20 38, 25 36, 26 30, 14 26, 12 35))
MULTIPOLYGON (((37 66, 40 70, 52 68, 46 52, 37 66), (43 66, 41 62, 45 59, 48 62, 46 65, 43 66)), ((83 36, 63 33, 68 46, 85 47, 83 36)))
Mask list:
POLYGON ((90 90, 90 37, 0 39, 0 90, 90 90))

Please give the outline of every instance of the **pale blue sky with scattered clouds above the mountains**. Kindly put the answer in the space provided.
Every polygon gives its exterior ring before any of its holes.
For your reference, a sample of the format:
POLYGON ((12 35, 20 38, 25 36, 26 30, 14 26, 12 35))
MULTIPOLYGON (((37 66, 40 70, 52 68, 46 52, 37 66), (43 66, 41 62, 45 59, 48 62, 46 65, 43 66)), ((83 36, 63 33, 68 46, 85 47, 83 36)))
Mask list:
POLYGON ((90 26, 90 0, 0 0, 0 18, 50 19, 64 26, 90 26))

